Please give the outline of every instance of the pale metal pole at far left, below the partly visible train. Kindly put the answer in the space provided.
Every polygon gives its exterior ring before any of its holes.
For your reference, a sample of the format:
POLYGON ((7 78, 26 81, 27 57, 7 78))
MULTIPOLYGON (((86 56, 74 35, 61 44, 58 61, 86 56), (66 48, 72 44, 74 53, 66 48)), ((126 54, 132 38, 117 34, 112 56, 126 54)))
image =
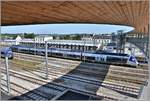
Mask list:
POLYGON ((6 67, 7 90, 8 90, 8 94, 10 94, 10 75, 9 75, 9 68, 8 68, 8 56, 5 57, 5 67, 6 67))

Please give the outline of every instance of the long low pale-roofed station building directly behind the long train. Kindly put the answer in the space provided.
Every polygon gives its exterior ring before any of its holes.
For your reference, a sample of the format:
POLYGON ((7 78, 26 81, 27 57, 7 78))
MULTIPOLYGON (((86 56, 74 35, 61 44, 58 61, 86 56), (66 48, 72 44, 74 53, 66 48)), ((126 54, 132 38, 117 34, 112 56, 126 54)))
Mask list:
MULTIPOLYGON (((49 40, 47 41, 48 48, 64 48, 71 50, 96 50, 100 43, 93 44, 93 41, 83 41, 83 40, 49 40)), ((44 48, 44 41, 24 41, 20 42, 20 45, 27 47, 35 47, 35 48, 44 48)))

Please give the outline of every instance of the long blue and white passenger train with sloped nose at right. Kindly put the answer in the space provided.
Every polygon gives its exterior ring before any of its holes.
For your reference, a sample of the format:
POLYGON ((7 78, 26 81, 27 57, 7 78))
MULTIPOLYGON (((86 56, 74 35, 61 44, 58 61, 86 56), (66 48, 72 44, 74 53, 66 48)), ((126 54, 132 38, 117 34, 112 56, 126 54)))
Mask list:
MULTIPOLYGON (((33 47, 23 47, 23 46, 12 46, 14 52, 27 53, 27 54, 37 54, 45 55, 45 49, 33 47)), ((138 61, 132 55, 128 54, 118 54, 118 53, 106 53, 106 52, 81 52, 72 51, 70 49, 58 49, 58 48, 48 48, 48 56, 75 59, 81 61, 97 62, 97 63, 107 63, 115 65, 128 65, 128 66, 138 66, 138 61)))

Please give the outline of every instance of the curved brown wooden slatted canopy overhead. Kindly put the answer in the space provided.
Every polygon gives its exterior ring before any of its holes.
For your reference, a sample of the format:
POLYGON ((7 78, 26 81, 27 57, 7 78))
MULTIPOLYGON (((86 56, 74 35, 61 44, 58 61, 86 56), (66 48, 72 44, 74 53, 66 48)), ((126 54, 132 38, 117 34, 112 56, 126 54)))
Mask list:
POLYGON ((148 33, 144 1, 2 1, 2 26, 50 23, 98 23, 135 27, 148 33))

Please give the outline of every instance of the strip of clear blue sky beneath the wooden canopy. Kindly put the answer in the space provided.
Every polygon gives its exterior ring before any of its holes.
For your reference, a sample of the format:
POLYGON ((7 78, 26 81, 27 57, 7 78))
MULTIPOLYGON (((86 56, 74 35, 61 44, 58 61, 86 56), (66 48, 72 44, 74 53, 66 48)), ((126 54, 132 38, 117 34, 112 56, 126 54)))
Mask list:
POLYGON ((125 32, 133 30, 132 27, 106 24, 39 24, 1 26, 1 33, 36 33, 36 34, 73 34, 73 33, 112 33, 117 30, 125 32))

